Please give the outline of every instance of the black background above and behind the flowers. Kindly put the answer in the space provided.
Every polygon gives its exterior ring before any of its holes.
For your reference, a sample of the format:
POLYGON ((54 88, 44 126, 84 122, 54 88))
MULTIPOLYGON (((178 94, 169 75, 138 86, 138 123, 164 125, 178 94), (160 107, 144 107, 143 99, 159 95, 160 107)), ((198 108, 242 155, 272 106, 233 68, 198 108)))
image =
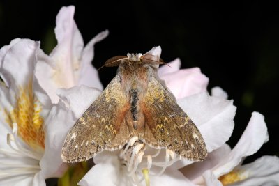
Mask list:
MULTIPOLYGON (((251 112, 264 114, 270 140, 246 162, 278 155, 278 6, 252 1, 181 2, 0 1, 0 46, 13 38, 31 38, 41 40, 45 52, 50 52, 56 45, 56 14, 61 6, 73 4, 85 43, 100 31, 110 31, 95 47, 93 64, 97 68, 112 56, 145 53, 160 45, 165 61, 179 57, 182 68, 201 68, 210 79, 209 90, 220 86, 234 100, 236 125, 228 142, 232 147, 251 112)), ((100 70, 104 86, 115 73, 116 68, 100 70)))

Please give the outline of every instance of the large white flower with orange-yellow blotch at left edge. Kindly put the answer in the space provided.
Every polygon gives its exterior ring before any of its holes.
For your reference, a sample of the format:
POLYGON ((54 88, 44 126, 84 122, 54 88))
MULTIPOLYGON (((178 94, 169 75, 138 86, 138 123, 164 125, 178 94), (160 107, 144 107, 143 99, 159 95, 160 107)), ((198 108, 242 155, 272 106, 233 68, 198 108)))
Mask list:
POLYGON ((51 104, 34 76, 39 45, 15 39, 0 50, 0 185, 45 185, 66 168, 56 141, 73 116, 51 104))

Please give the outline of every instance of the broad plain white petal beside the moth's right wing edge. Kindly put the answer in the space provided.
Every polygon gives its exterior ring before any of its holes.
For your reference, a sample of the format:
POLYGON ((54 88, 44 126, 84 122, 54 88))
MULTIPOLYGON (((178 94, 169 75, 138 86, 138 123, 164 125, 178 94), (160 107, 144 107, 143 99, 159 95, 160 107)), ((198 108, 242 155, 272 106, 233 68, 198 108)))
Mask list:
POLYGON ((199 93, 181 100, 179 106, 194 121, 202 133, 208 152, 229 139, 234 128, 236 107, 232 101, 199 93))

